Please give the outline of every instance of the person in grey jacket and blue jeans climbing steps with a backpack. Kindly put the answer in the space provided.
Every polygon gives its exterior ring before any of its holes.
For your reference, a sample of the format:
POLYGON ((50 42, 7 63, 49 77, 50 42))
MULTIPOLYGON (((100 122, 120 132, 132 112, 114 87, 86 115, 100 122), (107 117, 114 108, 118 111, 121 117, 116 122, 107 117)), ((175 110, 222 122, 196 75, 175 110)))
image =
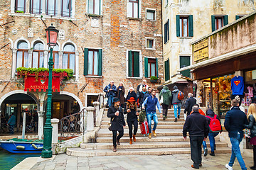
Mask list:
POLYGON ((171 96, 172 96, 172 104, 174 105, 174 116, 175 120, 174 122, 177 122, 177 118, 180 118, 181 114, 181 101, 184 98, 184 94, 178 90, 177 86, 174 86, 174 91, 171 91, 171 96), (177 117, 178 113, 178 117, 177 117))

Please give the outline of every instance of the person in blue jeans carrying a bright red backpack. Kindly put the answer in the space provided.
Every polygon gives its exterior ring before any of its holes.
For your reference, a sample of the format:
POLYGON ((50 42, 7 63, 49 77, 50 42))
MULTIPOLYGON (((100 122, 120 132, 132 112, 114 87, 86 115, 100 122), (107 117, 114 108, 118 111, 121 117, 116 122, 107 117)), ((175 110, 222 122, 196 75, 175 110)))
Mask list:
POLYGON ((220 123, 220 118, 218 118, 218 115, 216 115, 214 113, 214 111, 211 108, 208 108, 206 111, 206 118, 208 120, 208 124, 209 124, 209 140, 210 140, 210 156, 215 156, 214 151, 216 149, 216 145, 215 145, 215 138, 219 132, 221 133, 222 130, 222 126, 220 123))

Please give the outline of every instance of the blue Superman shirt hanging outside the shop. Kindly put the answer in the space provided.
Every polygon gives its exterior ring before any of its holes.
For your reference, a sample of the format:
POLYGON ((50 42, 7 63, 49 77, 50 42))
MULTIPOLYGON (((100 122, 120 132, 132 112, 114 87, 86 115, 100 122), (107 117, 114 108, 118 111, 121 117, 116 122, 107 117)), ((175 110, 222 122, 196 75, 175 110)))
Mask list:
POLYGON ((244 91, 244 81, 240 76, 235 76, 231 79, 231 89, 233 95, 242 95, 244 91))

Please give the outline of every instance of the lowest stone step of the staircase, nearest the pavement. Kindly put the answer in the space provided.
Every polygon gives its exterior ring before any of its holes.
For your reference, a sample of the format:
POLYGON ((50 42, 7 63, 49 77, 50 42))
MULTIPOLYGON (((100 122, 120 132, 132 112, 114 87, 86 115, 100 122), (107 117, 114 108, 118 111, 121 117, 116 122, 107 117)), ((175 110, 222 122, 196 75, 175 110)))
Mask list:
MULTIPOLYGON (((113 152, 112 149, 82 149, 80 147, 67 148, 66 154, 75 157, 95 157, 114 155, 167 155, 167 154, 190 154, 190 148, 154 148, 154 149, 119 149, 113 152)), ((219 147, 215 154, 231 153, 228 147, 219 147)))

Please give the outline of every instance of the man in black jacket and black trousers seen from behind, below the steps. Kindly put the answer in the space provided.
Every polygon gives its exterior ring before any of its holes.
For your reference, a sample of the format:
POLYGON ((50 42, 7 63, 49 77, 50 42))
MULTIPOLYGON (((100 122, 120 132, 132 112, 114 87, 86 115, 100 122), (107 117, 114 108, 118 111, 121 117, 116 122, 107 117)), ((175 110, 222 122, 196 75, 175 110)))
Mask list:
POLYGON ((198 112, 198 106, 193 106, 193 113, 188 116, 183 126, 183 137, 186 140, 187 132, 189 132, 191 144, 191 159, 194 169, 202 166, 202 143, 206 140, 209 132, 209 125, 206 117, 198 112))

